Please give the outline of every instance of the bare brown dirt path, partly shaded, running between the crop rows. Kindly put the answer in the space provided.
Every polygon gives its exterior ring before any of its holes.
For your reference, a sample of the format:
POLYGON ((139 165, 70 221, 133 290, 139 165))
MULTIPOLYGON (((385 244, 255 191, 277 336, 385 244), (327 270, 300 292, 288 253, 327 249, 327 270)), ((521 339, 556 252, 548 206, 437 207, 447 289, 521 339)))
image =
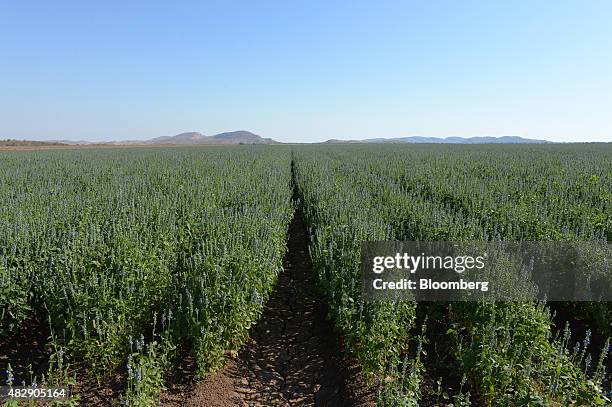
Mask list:
POLYGON ((170 388, 167 406, 373 406, 314 289, 306 230, 296 214, 285 271, 239 357, 194 389, 170 388), (178 390, 178 394, 177 394, 178 390))

